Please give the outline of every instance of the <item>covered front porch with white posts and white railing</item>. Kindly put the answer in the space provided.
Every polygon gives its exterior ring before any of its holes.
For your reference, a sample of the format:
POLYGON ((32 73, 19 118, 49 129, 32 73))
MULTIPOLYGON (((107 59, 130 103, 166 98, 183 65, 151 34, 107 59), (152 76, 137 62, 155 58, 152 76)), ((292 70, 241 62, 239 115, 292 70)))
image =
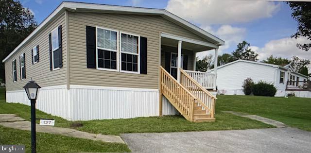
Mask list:
POLYGON ((161 66, 180 82, 180 68, 209 91, 216 91, 218 46, 170 34, 161 34, 161 66), (196 53, 212 51, 214 72, 196 71, 196 53))

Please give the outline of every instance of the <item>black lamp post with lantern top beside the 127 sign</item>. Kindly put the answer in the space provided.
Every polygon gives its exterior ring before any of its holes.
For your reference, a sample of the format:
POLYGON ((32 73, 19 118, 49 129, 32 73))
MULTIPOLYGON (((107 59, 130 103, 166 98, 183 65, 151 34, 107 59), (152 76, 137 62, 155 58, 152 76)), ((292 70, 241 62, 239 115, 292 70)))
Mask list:
POLYGON ((23 88, 31 102, 31 152, 35 153, 35 100, 41 87, 32 79, 23 88))

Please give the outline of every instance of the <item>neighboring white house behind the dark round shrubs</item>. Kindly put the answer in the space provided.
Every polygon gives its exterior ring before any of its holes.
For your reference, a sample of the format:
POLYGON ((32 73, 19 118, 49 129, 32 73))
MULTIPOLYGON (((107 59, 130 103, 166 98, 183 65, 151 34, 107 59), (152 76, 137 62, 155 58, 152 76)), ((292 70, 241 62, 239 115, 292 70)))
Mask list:
POLYGON ((219 94, 244 95, 242 84, 246 78, 275 85, 276 97, 294 92, 297 97, 311 98, 308 76, 294 72, 290 65, 282 67, 246 60, 237 60, 218 67, 216 85, 219 94))

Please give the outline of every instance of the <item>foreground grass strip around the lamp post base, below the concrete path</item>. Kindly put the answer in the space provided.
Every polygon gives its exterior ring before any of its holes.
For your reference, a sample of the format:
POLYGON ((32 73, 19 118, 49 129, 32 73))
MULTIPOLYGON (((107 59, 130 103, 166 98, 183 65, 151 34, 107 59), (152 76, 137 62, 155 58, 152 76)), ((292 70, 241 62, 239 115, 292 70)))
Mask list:
MULTIPOLYGON (((26 153, 31 152, 31 132, 0 126, 0 144, 25 145, 26 153)), ((37 153, 72 152, 131 152, 125 144, 104 143, 69 136, 36 133, 37 153)))

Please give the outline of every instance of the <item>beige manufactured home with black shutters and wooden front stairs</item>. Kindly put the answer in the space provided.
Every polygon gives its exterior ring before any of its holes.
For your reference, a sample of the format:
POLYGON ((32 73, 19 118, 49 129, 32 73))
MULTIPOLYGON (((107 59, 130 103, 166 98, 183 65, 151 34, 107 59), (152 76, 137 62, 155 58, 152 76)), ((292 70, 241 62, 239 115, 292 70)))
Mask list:
POLYGON ((36 108, 69 120, 214 121, 217 74, 195 57, 224 43, 164 9, 62 2, 2 61, 6 101, 29 105, 33 79, 36 108))

